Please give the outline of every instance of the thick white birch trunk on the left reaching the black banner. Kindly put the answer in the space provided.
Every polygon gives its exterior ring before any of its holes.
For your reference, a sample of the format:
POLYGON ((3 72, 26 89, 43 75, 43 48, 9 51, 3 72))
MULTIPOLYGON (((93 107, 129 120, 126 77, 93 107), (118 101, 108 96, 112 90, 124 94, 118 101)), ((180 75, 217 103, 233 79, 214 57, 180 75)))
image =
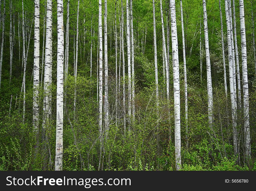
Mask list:
POLYGON ((57 104, 56 104, 56 155, 55 170, 62 170, 63 159, 63 64, 64 30, 63 0, 57 0, 57 104))

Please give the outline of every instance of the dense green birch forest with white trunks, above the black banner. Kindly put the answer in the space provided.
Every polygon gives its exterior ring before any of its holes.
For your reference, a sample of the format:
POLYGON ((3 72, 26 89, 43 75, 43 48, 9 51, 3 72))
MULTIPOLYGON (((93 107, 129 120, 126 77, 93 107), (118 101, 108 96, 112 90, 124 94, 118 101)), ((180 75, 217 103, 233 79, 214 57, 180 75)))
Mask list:
POLYGON ((0 170, 256 170, 255 0, 0 0, 0 170))

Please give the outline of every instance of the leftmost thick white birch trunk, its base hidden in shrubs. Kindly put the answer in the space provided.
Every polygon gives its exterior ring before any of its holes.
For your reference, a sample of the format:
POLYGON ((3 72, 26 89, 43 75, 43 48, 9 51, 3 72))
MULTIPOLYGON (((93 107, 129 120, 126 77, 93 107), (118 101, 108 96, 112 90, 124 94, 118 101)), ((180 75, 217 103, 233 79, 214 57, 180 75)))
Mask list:
POLYGON ((40 66, 40 8, 39 0, 35 0, 34 26, 34 67, 33 67, 33 127, 39 130, 39 66, 40 66))

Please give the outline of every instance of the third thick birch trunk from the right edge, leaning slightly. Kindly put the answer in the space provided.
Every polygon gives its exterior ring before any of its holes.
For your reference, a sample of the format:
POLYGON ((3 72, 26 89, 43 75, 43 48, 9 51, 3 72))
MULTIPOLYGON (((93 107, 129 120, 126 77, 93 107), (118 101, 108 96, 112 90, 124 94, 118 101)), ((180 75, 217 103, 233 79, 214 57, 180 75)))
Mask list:
POLYGON ((203 11, 204 11, 205 53, 206 53, 206 72, 207 72, 208 120, 209 120, 209 127, 212 129, 213 96, 212 96, 212 85, 211 85, 211 63, 210 63, 207 12, 206 12, 205 0, 203 0, 203 11))

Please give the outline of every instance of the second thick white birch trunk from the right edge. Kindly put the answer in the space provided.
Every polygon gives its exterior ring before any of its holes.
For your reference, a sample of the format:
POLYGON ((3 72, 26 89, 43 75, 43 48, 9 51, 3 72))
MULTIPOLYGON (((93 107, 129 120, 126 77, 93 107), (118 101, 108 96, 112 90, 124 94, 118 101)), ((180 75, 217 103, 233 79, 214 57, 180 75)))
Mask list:
POLYGON ((231 31, 230 31, 230 18, 228 13, 228 3, 225 0, 225 13, 226 13, 226 23, 227 23, 227 43, 228 43, 228 65, 229 65, 229 84, 230 84, 230 99, 231 99, 231 110, 232 110, 232 127, 233 127, 233 144, 234 144, 234 154, 237 155, 237 104, 235 102, 235 92, 234 92, 234 80, 233 80, 233 64, 232 64, 232 45, 231 45, 231 31))

